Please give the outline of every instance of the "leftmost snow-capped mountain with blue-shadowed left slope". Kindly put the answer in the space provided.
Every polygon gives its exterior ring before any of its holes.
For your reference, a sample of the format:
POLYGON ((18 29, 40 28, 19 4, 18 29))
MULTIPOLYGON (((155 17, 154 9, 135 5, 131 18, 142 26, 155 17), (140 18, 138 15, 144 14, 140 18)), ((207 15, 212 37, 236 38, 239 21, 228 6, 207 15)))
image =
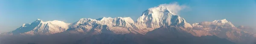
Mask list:
POLYGON ((31 24, 23 24, 16 30, 8 32, 6 34, 49 35, 54 33, 60 33, 67 30, 68 25, 70 24, 58 20, 43 22, 42 20, 37 19, 35 22, 32 22, 31 24))

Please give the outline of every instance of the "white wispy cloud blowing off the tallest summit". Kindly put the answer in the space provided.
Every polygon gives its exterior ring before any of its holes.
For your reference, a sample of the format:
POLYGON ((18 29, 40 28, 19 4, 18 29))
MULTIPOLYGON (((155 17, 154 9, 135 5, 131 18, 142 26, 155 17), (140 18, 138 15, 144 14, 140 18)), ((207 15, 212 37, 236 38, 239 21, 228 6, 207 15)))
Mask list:
POLYGON ((175 14, 177 15, 177 13, 180 11, 180 10, 183 10, 184 8, 187 8, 186 5, 179 5, 177 2, 175 3, 169 3, 169 4, 161 4, 163 6, 166 6, 170 12, 172 12, 172 14, 175 14))

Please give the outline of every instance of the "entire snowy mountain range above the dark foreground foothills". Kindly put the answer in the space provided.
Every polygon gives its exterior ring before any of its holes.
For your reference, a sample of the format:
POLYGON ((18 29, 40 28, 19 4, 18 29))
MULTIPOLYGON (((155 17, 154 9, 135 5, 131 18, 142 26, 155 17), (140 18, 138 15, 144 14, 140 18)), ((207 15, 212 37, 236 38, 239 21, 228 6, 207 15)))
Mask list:
POLYGON ((226 19, 194 23, 191 25, 182 17, 172 14, 171 10, 166 6, 159 5, 144 11, 136 22, 130 17, 82 18, 72 24, 57 20, 43 22, 37 19, 31 24, 23 24, 16 30, 4 34, 52 36, 60 33, 64 33, 63 35, 68 35, 65 33, 72 33, 92 36, 101 34, 141 34, 144 36, 155 36, 163 33, 161 36, 167 34, 168 36, 166 37, 182 36, 187 38, 187 36, 192 36, 194 38, 200 38, 201 36, 217 36, 218 38, 225 38, 239 44, 251 44, 246 43, 246 41, 255 38, 255 33, 242 30, 241 28, 235 27, 226 19))

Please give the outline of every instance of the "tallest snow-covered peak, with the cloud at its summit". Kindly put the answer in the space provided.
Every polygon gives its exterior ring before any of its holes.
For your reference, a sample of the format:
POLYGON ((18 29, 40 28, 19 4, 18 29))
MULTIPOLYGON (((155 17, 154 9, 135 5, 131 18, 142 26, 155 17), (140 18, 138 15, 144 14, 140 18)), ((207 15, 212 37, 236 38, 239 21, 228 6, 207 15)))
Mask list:
POLYGON ((182 27, 192 27, 185 19, 172 14, 166 6, 159 5, 157 7, 149 8, 137 19, 138 28, 158 28, 167 25, 177 25, 182 27))

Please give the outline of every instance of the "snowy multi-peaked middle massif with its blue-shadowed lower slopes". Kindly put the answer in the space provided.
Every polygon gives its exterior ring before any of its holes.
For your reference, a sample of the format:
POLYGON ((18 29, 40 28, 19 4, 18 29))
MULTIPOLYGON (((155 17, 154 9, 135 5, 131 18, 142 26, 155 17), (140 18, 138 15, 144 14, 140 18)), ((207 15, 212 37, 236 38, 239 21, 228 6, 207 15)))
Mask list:
POLYGON ((103 17, 99 19, 82 18, 71 25, 71 33, 114 33, 125 34, 131 33, 134 21, 130 17, 103 17))

